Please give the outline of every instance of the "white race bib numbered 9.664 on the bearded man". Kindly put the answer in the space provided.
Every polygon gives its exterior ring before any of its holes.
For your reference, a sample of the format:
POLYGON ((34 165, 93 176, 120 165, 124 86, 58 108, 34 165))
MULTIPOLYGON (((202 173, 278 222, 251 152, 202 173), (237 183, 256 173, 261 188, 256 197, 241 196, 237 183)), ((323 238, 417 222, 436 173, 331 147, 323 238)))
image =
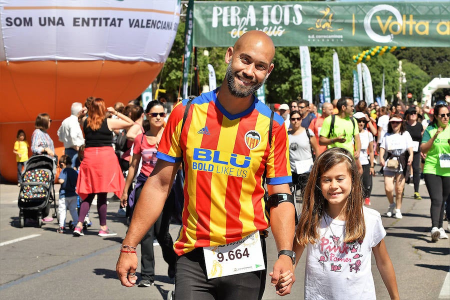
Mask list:
POLYGON ((258 230, 226 245, 203 247, 203 255, 208 279, 265 269, 258 230))

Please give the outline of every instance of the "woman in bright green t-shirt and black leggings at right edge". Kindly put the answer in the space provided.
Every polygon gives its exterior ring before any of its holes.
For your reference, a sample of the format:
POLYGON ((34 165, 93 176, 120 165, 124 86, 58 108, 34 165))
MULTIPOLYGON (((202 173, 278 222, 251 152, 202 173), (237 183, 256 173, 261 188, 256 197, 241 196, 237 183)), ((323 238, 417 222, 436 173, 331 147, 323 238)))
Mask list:
POLYGON ((448 238, 442 222, 445 202, 447 216, 450 207, 450 113, 445 104, 439 104, 434 107, 433 115, 432 123, 423 133, 420 150, 426 153, 423 174, 431 199, 431 241, 435 242, 438 238, 448 238))

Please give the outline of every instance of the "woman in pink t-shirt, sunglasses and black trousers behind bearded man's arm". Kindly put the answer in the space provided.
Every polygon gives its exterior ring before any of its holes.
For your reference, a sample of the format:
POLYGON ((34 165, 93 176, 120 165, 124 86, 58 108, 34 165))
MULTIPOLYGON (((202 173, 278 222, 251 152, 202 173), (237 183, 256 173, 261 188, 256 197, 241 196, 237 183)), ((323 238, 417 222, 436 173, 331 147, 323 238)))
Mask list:
MULTIPOLYGON (((126 176, 125 186, 120 198, 120 203, 126 206, 127 201, 129 209, 129 217, 132 217, 133 208, 139 198, 143 184, 147 180, 150 173, 156 164, 156 152, 159 140, 161 139, 162 131, 164 130, 164 106, 163 103, 157 100, 150 101, 145 108, 145 114, 150 123, 150 128, 145 133, 140 133, 134 138, 133 156, 126 176), (142 167, 137 176, 136 185, 128 197, 128 188, 137 173, 137 166, 142 159, 142 167)), ((168 276, 173 278, 175 275, 175 261, 176 254, 173 250, 173 240, 168 232, 170 217, 173 208, 174 195, 170 192, 167 201, 165 201, 164 209, 161 215, 150 227, 147 233, 140 241, 142 256, 141 280, 138 283, 140 287, 148 287, 153 285, 154 281, 154 254, 153 254, 153 239, 156 237, 162 250, 162 257, 168 264, 168 276)))

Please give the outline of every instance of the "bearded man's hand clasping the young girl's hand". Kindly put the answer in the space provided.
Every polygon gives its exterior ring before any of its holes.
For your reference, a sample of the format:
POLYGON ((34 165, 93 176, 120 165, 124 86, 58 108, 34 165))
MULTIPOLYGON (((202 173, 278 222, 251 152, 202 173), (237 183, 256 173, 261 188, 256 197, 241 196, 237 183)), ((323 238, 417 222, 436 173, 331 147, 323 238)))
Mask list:
POLYGON ((269 273, 269 276, 271 276, 270 284, 275 286, 276 294, 280 296, 289 294, 292 284, 295 282, 292 259, 284 254, 279 255, 273 265, 273 271, 269 273), (289 276, 287 279, 285 278, 286 275, 289 276))

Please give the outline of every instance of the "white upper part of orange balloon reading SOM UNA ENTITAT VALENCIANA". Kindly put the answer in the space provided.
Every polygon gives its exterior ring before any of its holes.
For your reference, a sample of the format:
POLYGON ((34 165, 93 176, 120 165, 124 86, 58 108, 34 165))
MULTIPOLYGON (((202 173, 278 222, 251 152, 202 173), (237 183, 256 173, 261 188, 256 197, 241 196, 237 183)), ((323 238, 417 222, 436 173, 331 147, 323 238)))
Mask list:
POLYGON ((164 62, 179 0, 0 0, 0 60, 164 62))

